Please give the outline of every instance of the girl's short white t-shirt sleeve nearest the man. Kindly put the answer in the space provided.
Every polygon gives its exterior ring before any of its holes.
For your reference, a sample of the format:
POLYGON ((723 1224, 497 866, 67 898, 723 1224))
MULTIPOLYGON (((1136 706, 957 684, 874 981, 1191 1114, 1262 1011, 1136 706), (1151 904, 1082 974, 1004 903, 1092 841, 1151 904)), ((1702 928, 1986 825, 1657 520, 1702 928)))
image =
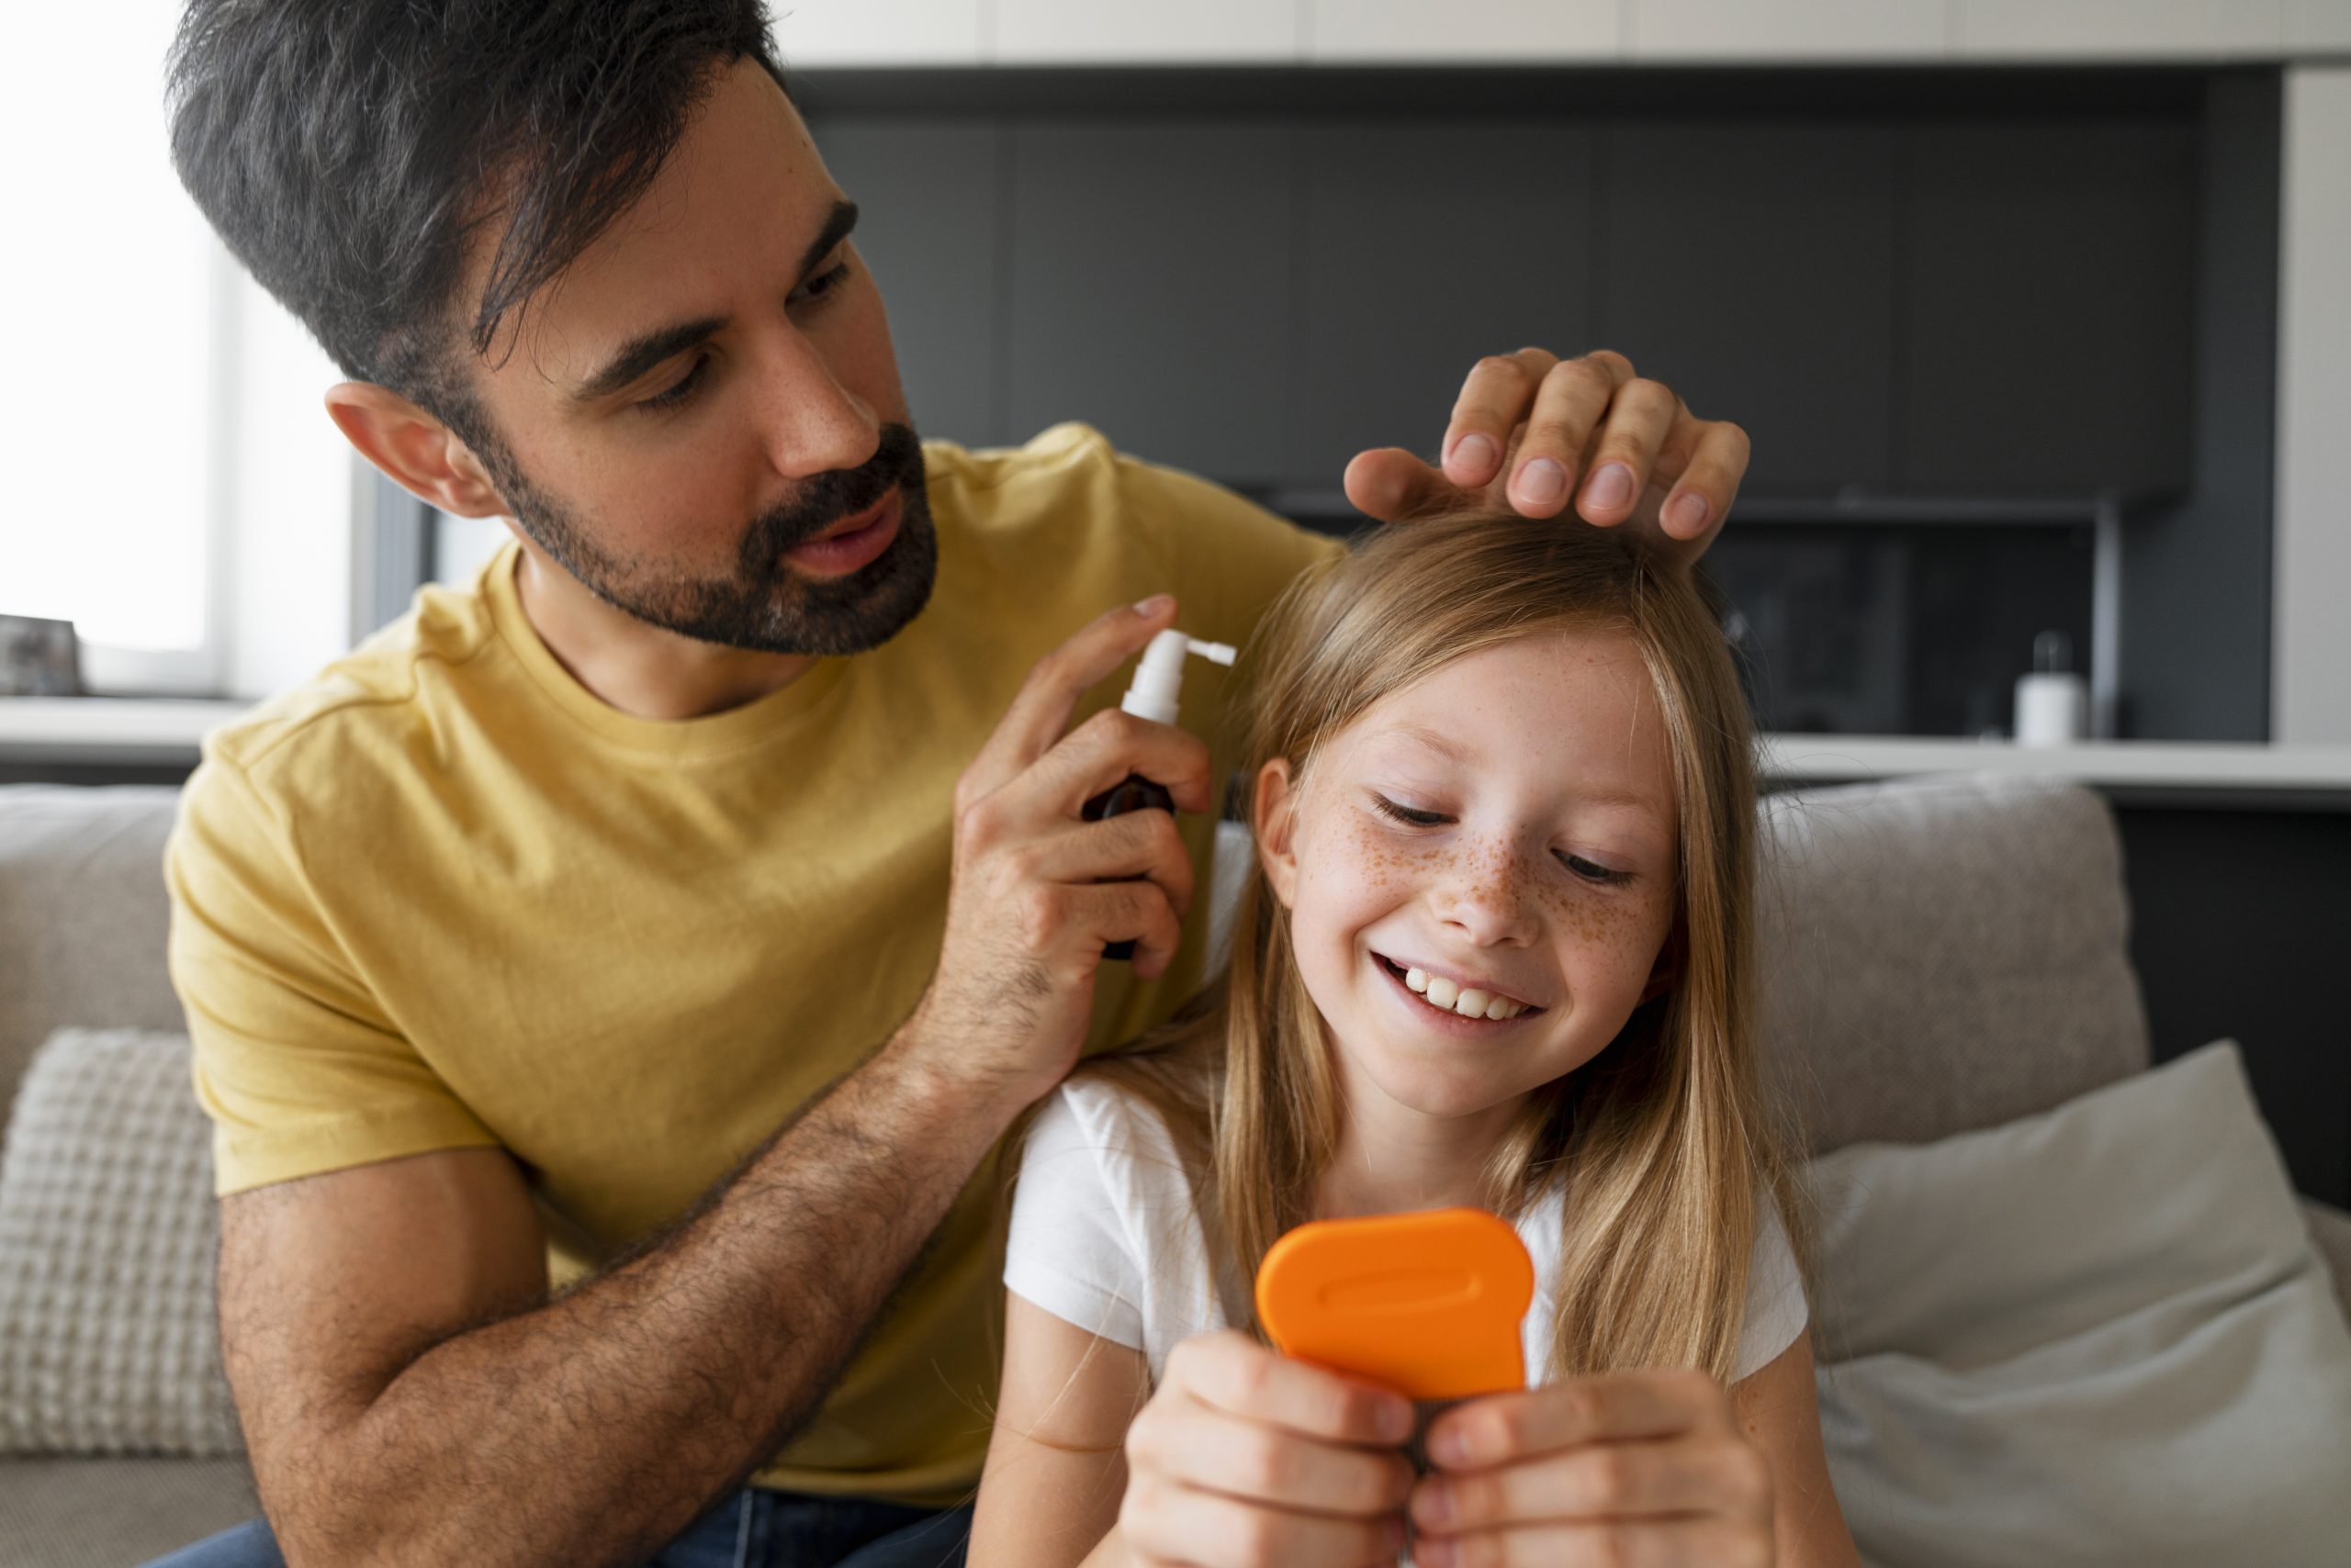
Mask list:
POLYGON ((1143 1265, 1128 1246, 1107 1157, 1070 1091, 1053 1091, 1020 1152, 1004 1288, 1065 1324, 1143 1349, 1143 1265))

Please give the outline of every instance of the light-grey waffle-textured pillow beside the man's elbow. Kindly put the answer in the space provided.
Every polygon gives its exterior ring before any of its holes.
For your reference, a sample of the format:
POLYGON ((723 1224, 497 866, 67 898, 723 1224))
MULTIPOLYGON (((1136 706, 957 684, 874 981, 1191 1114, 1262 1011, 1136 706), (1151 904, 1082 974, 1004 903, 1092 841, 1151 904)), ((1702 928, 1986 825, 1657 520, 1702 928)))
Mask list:
POLYGON ((59 1030, 0 1145, 0 1453, 242 1453, 188 1037, 59 1030))

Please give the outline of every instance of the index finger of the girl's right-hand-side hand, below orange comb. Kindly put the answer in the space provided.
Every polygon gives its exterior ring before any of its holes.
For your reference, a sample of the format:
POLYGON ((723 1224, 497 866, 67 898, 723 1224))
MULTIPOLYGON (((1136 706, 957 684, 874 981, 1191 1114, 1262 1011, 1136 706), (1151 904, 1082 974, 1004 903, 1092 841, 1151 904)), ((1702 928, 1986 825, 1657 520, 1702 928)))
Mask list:
POLYGON ((1441 1469, 1488 1469, 1575 1443, 1676 1436, 1728 1420, 1721 1385, 1702 1371, 1603 1373, 1469 1399, 1429 1425, 1427 1446, 1441 1469))

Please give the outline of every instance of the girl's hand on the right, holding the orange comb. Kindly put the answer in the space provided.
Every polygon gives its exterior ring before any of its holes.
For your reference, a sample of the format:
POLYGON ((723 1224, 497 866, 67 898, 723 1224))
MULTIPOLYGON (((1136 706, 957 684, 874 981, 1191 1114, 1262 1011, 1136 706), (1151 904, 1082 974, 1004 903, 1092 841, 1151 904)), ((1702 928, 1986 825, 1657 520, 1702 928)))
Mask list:
POLYGON ((1491 1394, 1429 1425, 1418 1568, 1770 1568, 1770 1462, 1700 1371, 1491 1394))

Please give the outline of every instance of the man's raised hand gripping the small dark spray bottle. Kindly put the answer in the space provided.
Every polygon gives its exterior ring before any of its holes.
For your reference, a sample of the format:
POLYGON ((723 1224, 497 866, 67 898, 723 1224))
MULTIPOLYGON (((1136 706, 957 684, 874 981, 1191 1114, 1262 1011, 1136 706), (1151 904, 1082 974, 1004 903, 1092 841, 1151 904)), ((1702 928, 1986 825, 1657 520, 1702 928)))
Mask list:
POLYGON ((1176 621, 1166 595, 1079 630, 1030 672, 955 785, 955 884, 938 971, 903 1037, 978 1093, 1020 1107, 1077 1065, 1103 947, 1136 940, 1136 973, 1166 973, 1192 905, 1192 858, 1166 811, 1100 823, 1081 806, 1140 773, 1183 811, 1208 811, 1208 748, 1173 724, 1070 712, 1176 621))

